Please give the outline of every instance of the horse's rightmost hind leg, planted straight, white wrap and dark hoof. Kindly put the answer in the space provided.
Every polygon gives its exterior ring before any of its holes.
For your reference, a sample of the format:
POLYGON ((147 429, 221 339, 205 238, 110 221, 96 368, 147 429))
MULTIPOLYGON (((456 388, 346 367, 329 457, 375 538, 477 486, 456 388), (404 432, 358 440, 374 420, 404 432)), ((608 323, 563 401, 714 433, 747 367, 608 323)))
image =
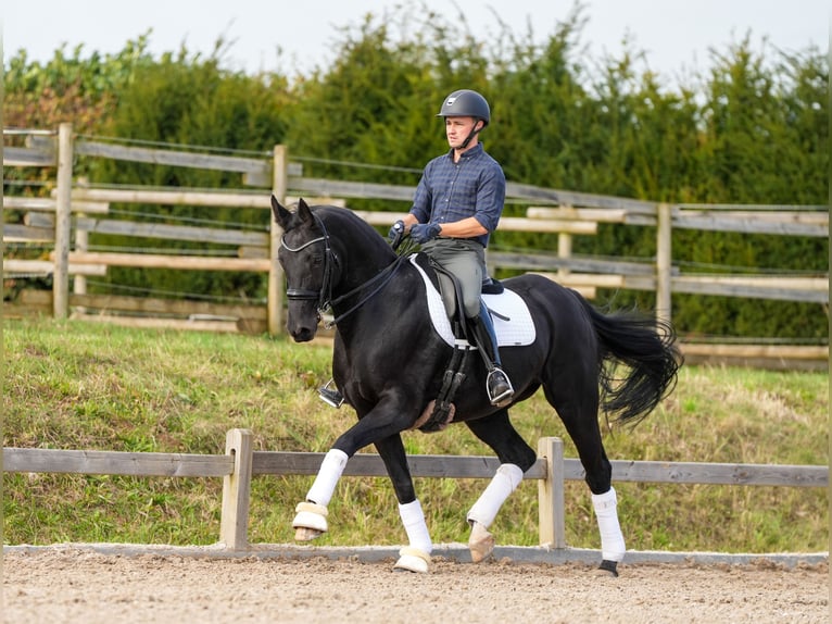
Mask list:
POLYGON ((592 507, 601 533, 601 570, 618 576, 616 566, 627 550, 618 523, 617 497, 613 488, 613 466, 607 459, 598 427, 598 392, 595 375, 558 377, 557 385, 544 386, 546 400, 555 408, 578 449, 592 507), (581 384, 584 379, 585 383, 581 384))

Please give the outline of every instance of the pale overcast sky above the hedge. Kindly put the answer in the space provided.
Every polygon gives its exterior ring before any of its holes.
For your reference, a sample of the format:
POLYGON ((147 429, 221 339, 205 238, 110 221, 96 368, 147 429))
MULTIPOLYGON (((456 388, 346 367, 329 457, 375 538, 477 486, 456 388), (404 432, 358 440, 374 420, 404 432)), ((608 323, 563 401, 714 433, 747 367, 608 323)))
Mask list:
MULTIPOLYGON (((573 0, 415 0, 418 7, 454 23, 465 15, 477 38, 500 33, 504 24, 519 37, 538 42, 556 32, 575 8, 573 0)), ((210 55, 222 37, 227 68, 248 73, 281 71, 307 74, 326 67, 344 27, 357 27, 368 13, 377 17, 401 0, 13 0, 2 9, 4 62, 25 49, 29 60, 45 62, 66 43, 81 57, 117 53, 128 40, 150 33, 154 55, 191 52, 210 55), (278 58, 278 47, 282 50, 278 58)), ((727 52, 751 35, 784 51, 805 51, 810 43, 829 49, 830 0, 583 0, 588 18, 580 45, 592 58, 622 52, 627 38, 644 51, 647 66, 668 83, 684 79, 711 64, 709 49, 727 52)))

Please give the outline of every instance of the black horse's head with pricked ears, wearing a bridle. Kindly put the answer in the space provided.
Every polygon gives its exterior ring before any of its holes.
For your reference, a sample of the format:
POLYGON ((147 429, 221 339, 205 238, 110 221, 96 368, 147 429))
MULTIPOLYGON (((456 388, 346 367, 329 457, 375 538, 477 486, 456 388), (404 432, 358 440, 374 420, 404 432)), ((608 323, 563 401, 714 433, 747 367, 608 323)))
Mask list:
POLYGON ((272 196, 272 211, 283 228, 278 260, 288 285, 287 328, 297 342, 306 342, 315 337, 320 314, 329 307, 337 258, 324 222, 305 201, 289 212, 272 196))

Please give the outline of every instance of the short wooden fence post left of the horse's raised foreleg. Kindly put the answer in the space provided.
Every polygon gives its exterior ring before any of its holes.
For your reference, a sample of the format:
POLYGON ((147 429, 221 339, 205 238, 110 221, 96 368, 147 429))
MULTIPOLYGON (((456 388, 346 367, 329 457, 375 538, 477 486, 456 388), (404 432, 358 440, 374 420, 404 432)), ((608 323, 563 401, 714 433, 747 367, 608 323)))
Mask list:
POLYGON ((230 429, 225 437, 225 453, 234 458, 234 472, 223 478, 219 540, 230 550, 244 550, 249 546, 251 439, 249 429, 230 429))

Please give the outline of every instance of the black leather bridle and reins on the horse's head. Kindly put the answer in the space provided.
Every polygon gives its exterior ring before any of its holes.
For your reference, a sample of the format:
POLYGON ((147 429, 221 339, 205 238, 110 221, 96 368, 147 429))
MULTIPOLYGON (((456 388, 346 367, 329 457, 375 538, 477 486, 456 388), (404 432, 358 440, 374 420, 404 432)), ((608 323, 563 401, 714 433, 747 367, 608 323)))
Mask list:
POLYGON ((332 321, 326 324, 326 326, 332 327, 340 321, 342 321, 345 316, 352 314, 355 312, 358 308, 364 305, 369 299, 375 297, 387 284, 393 278, 393 275, 395 275, 395 272, 399 270, 399 267, 402 265, 402 261, 404 260, 404 255, 399 255, 390 265, 388 265, 383 271, 380 271, 378 274, 376 274, 374 277, 370 277, 367 282, 364 284, 358 285, 356 288, 353 288, 349 292, 345 292, 344 295, 341 295, 337 297, 336 299, 332 299, 332 288, 335 285, 335 271, 333 265, 338 265, 338 255, 336 255, 336 252, 332 250, 332 246, 329 244, 329 233, 327 232, 326 226, 324 225, 324 221, 317 215, 313 213, 313 216, 315 217, 315 222, 317 223, 318 227, 320 228, 320 232, 324 233, 323 236, 318 236, 317 238, 313 238, 312 240, 307 240, 303 245, 300 245, 299 247, 289 247, 286 242, 286 234, 280 237, 280 246, 286 249, 287 251, 290 251, 292 253, 297 253, 298 251, 301 251, 303 249, 306 249, 311 245, 315 245, 316 242, 323 242, 324 244, 324 279, 320 283, 320 289, 319 290, 312 290, 311 288, 287 288, 286 289, 286 297, 290 301, 315 301, 317 300, 317 308, 316 312, 318 315, 318 320, 324 315, 324 312, 326 312, 328 309, 332 308, 333 305, 337 305, 338 303, 342 302, 349 297, 352 297, 366 286, 369 286, 371 284, 375 284, 376 282, 380 282, 380 284, 368 295, 366 295, 364 298, 362 298, 355 305, 350 308, 346 312, 343 314, 340 314, 332 321))

